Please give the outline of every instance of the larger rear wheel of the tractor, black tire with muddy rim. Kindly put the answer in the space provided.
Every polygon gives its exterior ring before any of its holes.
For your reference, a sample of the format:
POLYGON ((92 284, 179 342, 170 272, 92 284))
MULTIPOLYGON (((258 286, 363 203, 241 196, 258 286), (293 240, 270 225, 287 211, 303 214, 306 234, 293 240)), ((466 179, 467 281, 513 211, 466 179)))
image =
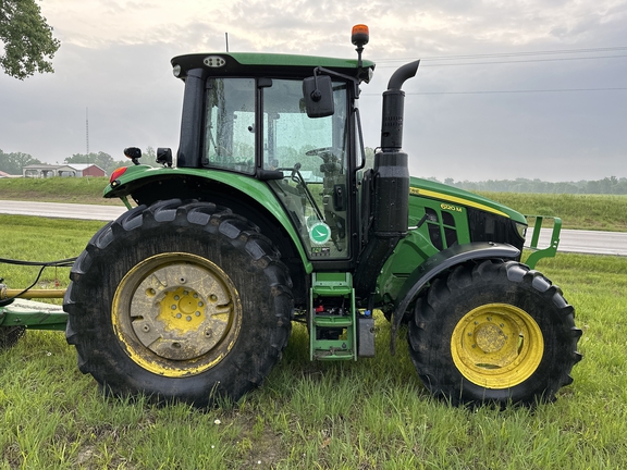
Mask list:
POLYGON ((116 396, 237 400, 290 336, 291 281, 279 257, 255 225, 212 203, 128 211, 70 274, 66 338, 81 371, 116 396))

